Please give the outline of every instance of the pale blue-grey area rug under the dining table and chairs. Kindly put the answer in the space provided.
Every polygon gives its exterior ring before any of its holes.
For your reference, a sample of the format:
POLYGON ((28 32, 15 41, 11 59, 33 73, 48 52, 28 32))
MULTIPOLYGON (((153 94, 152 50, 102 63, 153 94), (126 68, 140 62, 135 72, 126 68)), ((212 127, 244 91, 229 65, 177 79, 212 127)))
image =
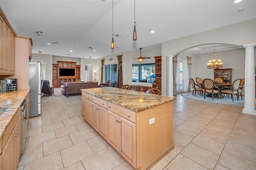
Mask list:
POLYGON ((222 99, 218 99, 218 98, 214 98, 212 100, 212 97, 205 97, 204 99, 204 94, 200 95, 199 93, 196 93, 196 97, 194 95, 192 95, 192 92, 186 92, 186 93, 181 93, 180 95, 182 95, 183 97, 189 98, 189 99, 194 99, 194 100, 200 100, 200 101, 206 101, 206 102, 211 102, 211 103, 220 103, 220 104, 224 104, 224 105, 236 105, 236 106, 244 106, 244 97, 243 99, 241 99, 241 96, 237 98, 236 96, 234 97, 234 101, 232 101, 231 98, 228 99, 228 97, 224 97, 222 99))

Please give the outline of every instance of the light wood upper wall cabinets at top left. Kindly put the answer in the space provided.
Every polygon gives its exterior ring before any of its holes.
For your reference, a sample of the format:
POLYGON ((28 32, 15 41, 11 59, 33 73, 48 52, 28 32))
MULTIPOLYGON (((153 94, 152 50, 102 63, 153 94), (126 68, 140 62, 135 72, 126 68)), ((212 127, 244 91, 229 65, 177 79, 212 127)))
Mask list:
POLYGON ((16 33, 0 8, 0 75, 15 74, 15 36, 16 33))

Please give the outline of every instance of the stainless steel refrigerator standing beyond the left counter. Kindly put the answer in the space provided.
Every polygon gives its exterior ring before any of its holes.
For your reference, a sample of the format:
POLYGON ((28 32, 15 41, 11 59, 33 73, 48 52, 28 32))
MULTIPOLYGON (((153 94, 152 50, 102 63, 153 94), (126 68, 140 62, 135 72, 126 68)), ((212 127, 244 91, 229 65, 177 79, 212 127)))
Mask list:
POLYGON ((36 117, 41 114, 42 101, 41 89, 43 74, 40 61, 29 62, 29 89, 30 89, 30 116, 36 117))

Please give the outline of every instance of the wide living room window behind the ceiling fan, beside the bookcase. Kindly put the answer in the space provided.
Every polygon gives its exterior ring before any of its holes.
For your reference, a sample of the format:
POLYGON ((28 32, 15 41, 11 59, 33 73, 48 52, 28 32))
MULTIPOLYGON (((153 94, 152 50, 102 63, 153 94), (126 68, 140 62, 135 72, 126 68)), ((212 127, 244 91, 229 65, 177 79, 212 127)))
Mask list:
POLYGON ((133 64, 132 82, 155 83, 155 63, 133 64))

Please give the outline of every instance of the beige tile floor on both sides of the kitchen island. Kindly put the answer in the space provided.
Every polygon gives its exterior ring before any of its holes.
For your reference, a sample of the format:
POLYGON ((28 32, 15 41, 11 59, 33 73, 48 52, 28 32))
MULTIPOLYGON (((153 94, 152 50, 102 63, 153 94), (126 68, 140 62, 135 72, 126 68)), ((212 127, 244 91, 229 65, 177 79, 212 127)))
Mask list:
MULTIPOLYGON (((81 117, 81 95, 43 100, 18 170, 132 169, 81 117)), ((152 170, 256 169, 256 116, 181 95, 173 104, 174 149, 152 170)))

